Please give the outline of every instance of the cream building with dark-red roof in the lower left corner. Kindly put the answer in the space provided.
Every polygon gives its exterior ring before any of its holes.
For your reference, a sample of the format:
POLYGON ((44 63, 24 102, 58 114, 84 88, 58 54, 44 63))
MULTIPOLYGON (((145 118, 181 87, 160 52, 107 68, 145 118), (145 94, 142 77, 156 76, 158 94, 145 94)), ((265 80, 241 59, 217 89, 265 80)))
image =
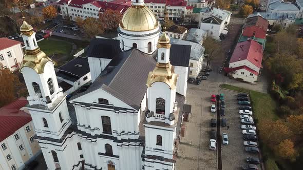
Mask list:
POLYGON ((41 153, 32 118, 24 108, 27 103, 21 97, 0 108, 1 169, 23 169, 41 153))

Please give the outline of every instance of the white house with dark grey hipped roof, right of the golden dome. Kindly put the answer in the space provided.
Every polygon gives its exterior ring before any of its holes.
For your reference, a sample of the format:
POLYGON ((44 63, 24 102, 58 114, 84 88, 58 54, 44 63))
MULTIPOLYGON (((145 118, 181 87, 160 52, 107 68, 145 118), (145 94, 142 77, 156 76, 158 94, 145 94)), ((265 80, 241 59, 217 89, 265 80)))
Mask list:
POLYGON ((223 20, 216 16, 205 18, 201 23, 200 29, 206 31, 208 35, 216 40, 220 40, 221 34, 226 35, 228 32, 228 29, 224 28, 223 20))

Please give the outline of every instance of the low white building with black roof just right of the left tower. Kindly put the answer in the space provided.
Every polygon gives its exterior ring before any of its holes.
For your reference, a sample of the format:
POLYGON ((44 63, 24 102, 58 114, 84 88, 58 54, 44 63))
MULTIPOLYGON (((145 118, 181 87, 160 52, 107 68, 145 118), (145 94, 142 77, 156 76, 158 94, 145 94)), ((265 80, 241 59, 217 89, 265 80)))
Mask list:
POLYGON ((59 86, 70 94, 91 81, 88 59, 76 57, 56 70, 59 86), (70 86, 68 86, 70 84, 70 86))

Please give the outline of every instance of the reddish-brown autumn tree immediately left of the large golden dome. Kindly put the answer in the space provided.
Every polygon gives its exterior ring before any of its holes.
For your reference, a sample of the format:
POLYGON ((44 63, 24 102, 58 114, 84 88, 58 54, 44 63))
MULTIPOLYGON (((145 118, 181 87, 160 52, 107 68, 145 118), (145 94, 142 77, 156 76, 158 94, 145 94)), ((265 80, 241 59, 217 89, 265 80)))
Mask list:
POLYGON ((103 31, 116 31, 121 24, 122 14, 118 10, 107 9, 104 13, 99 13, 99 21, 103 31))

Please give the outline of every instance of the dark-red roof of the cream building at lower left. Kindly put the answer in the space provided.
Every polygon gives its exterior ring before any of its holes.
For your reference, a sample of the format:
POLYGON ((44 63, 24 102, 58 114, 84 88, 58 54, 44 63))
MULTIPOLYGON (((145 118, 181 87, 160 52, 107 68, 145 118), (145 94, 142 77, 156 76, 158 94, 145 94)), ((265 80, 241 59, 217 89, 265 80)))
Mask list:
POLYGON ((21 97, 0 108, 0 141, 5 140, 32 120, 30 114, 20 110, 27 103, 26 98, 21 97))

